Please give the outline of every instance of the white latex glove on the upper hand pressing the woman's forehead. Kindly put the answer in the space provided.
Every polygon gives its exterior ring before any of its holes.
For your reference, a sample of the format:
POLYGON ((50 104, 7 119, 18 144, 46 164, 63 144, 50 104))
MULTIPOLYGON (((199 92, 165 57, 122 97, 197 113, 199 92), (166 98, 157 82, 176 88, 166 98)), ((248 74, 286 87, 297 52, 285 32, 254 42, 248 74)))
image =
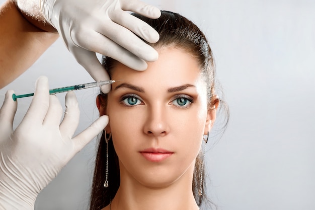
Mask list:
MULTIPOLYGON (((140 38, 155 43, 159 34, 126 11, 159 18, 161 11, 138 0, 39 0, 43 16, 57 29, 68 50, 94 80, 108 80, 98 52, 143 71, 157 52, 140 38), (136 35, 135 35, 136 34, 136 35)), ((108 92, 110 86, 103 86, 108 92)))

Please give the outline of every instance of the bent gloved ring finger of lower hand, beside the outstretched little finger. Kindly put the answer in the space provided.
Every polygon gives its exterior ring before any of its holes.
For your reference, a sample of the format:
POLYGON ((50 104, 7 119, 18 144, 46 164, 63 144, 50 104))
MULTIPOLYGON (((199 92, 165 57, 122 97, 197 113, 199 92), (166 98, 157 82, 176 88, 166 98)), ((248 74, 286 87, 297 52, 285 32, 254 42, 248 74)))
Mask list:
POLYGON ((80 109, 74 92, 70 91, 65 95, 65 113, 59 126, 62 136, 71 139, 80 120, 80 109))

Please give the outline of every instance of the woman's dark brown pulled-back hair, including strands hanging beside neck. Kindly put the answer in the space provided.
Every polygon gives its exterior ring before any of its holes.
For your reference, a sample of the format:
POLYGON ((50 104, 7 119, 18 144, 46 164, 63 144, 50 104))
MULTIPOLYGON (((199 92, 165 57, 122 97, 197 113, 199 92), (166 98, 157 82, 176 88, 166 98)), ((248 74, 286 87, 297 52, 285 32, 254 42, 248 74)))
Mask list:
MULTIPOLYGON (((220 99, 213 98, 215 93, 215 65, 212 56, 211 48, 207 42, 205 35, 200 29, 187 18, 168 11, 161 11, 162 15, 159 19, 149 19, 137 14, 133 14, 137 18, 143 20, 152 26, 159 34, 160 40, 157 43, 150 44, 153 48, 157 49, 163 46, 171 46, 182 49, 192 55, 199 63, 202 78, 206 82, 208 107, 213 107, 220 99)), ((103 56, 103 65, 111 76, 111 69, 115 65, 114 59, 103 56)), ((98 96, 101 102, 101 106, 106 107, 107 94, 101 94, 98 96)), ((227 123, 227 121, 226 121, 227 123)), ((96 157, 96 165, 93 178, 92 194, 91 194, 91 210, 98 210, 107 206, 114 198, 120 184, 119 164, 118 157, 115 152, 112 141, 109 141, 109 186, 105 188, 103 183, 106 176, 106 143, 105 132, 103 132, 100 139, 100 145, 96 157)), ((202 161, 203 152, 200 151, 196 158, 192 191, 196 199, 197 204, 200 206, 203 201, 207 201, 209 205, 210 200, 206 197, 205 193, 202 196, 198 195, 198 189, 202 173, 203 191, 205 192, 205 173, 201 170, 204 167, 202 161)), ((209 206, 208 206, 209 207, 209 206)), ((209 209, 207 207, 207 209, 209 209)))

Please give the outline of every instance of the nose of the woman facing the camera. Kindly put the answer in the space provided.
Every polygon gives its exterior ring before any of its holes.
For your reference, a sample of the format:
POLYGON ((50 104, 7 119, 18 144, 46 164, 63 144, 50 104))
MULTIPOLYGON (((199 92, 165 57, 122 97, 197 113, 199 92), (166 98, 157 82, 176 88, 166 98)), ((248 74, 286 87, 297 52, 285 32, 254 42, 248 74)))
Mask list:
POLYGON ((169 133, 167 110, 163 106, 154 106, 147 109, 146 122, 143 131, 147 135, 165 136, 169 133))

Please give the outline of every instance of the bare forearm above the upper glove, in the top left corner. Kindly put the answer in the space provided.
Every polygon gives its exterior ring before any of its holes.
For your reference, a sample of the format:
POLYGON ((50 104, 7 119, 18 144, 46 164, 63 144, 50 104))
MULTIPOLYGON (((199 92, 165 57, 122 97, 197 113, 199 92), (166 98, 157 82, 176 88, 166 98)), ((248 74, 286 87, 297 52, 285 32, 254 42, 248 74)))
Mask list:
POLYGON ((58 38, 40 14, 29 12, 22 15, 10 0, 0 8, 0 89, 24 73, 58 38))

